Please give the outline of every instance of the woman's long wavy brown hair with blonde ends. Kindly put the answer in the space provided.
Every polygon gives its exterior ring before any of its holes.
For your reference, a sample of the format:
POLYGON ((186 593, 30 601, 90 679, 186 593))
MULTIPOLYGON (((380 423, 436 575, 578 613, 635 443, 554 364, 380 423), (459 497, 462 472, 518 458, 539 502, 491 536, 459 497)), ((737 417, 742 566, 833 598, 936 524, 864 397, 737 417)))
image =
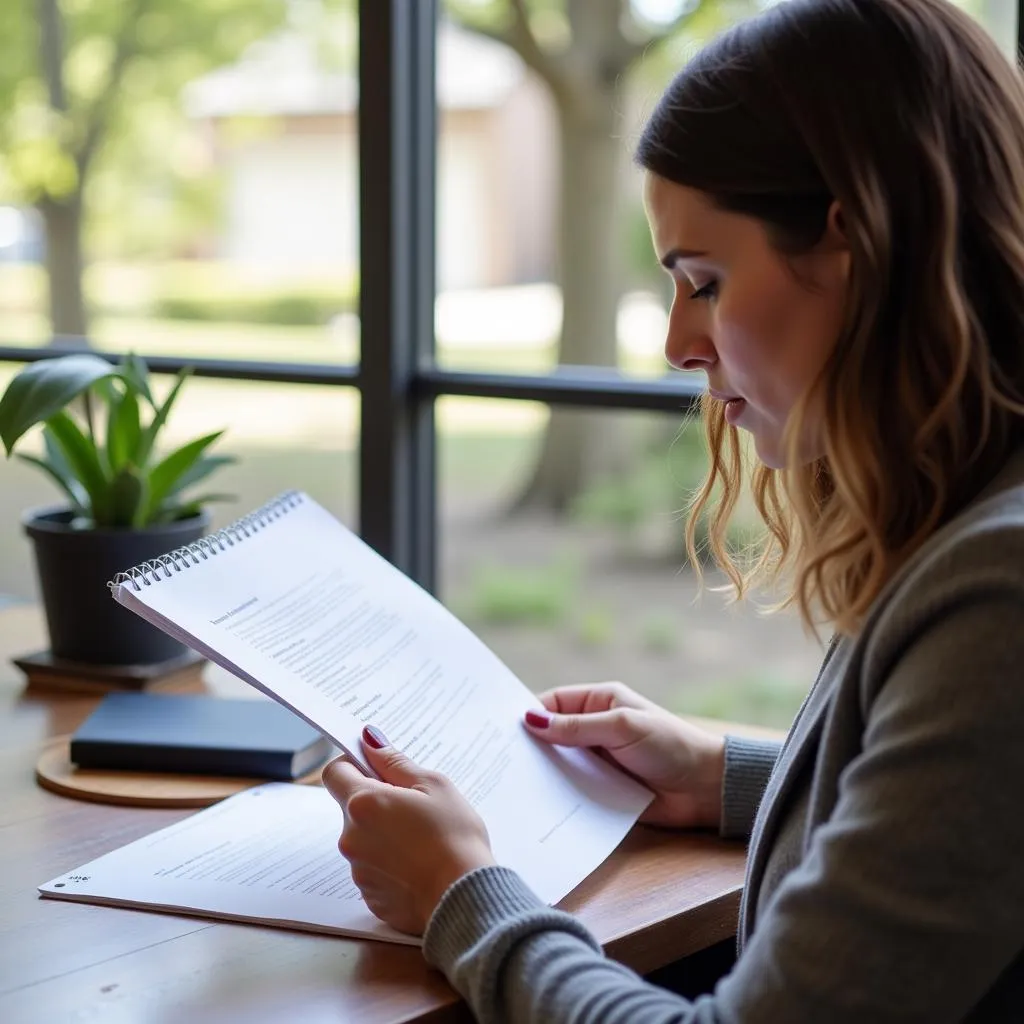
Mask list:
POLYGON ((845 318, 788 418, 786 468, 746 479, 736 429, 706 395, 710 472, 687 547, 696 563, 706 516, 738 597, 784 575, 783 605, 854 633, 1024 434, 1021 78, 945 0, 790 0, 686 66, 636 159, 761 220, 783 255, 810 250, 839 202, 845 318), (810 409, 823 455, 807 463, 810 409), (748 563, 725 541, 744 479, 767 526, 748 563))

